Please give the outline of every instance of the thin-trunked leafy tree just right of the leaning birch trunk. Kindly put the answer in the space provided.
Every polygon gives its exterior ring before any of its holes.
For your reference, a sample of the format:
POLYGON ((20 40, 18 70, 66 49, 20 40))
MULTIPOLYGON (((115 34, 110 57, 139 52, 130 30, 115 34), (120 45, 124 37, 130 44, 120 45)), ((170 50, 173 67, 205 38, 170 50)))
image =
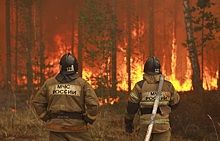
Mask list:
MULTIPOLYGON (((195 38, 195 44, 198 51, 198 55, 201 55, 201 79, 203 82, 204 77, 204 56, 205 47, 207 50, 215 48, 215 45, 211 45, 214 41, 216 44, 216 33, 219 32, 220 23, 218 18, 214 16, 211 8, 215 3, 210 2, 210 0, 198 0, 196 6, 192 7, 194 32, 200 38, 195 38), (213 46, 213 47, 212 47, 213 46)), ((203 83, 204 84, 204 83, 203 83)))

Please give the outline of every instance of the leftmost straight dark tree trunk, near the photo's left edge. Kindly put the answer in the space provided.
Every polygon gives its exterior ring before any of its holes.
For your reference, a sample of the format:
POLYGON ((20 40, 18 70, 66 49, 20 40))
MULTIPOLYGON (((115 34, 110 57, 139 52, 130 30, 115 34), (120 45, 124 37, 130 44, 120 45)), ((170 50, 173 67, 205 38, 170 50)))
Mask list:
POLYGON ((10 0, 6 0, 6 90, 9 92, 11 83, 11 30, 10 30, 10 0))

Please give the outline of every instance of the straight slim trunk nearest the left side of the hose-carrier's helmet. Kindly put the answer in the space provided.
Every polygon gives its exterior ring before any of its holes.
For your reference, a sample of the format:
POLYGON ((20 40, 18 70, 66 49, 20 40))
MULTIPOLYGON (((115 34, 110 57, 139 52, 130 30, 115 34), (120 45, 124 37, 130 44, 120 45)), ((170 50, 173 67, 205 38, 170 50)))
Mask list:
POLYGON ((128 92, 131 91, 131 1, 128 1, 127 8, 127 73, 128 73, 128 92))

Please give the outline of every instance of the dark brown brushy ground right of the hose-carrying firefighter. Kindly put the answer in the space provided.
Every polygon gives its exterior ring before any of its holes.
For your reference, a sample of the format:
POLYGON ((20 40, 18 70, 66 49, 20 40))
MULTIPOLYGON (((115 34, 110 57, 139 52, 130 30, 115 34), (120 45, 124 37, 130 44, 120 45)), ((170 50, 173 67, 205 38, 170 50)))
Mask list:
POLYGON ((220 93, 180 93, 181 101, 172 111, 171 125, 175 135, 201 141, 220 140, 220 93))

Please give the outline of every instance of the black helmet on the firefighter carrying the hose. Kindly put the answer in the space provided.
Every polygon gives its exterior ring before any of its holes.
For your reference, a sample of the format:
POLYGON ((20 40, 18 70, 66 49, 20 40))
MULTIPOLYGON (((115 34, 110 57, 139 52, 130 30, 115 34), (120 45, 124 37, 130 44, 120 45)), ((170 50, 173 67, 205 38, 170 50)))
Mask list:
POLYGON ((160 61, 156 57, 150 57, 144 64, 144 72, 147 74, 160 74, 160 61))

